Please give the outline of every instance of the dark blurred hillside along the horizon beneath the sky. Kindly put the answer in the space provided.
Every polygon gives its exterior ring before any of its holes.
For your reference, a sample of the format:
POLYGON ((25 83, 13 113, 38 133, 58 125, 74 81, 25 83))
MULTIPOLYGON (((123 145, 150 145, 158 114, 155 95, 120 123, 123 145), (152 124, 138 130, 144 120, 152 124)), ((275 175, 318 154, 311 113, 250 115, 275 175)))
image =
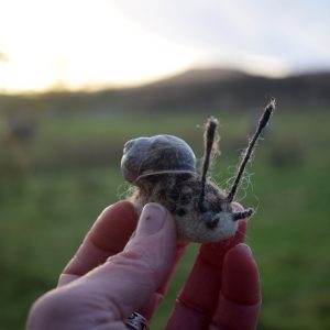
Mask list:
POLYGON ((194 69, 136 88, 0 96, 0 111, 42 108, 61 113, 244 111, 263 106, 270 97, 275 97, 286 110, 330 109, 330 73, 275 79, 219 68, 194 69))

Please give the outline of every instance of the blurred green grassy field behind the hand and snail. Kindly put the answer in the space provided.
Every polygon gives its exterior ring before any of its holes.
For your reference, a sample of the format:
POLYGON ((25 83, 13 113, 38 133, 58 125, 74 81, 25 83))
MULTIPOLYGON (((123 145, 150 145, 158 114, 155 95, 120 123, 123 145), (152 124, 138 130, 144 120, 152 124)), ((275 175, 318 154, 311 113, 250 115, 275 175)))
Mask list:
MULTIPOLYGON (((177 134, 201 156, 206 116, 43 113, 29 143, 9 136, 1 118, 0 329, 23 328, 32 301, 54 287, 98 213, 124 198, 124 142, 177 134)), ((255 117, 216 116, 222 154, 212 173, 226 187, 255 117)), ((330 329, 329 125, 329 113, 279 109, 243 182, 240 201, 257 208, 246 243, 262 278, 260 330, 330 329)), ((152 329, 163 329, 197 249, 185 255, 152 329)))

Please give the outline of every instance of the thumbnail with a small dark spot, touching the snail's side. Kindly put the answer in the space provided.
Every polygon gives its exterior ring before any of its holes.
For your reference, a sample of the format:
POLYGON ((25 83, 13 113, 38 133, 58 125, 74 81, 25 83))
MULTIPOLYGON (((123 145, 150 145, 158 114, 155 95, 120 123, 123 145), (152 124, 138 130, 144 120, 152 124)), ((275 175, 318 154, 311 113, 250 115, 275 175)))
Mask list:
POLYGON ((136 237, 147 237, 160 231, 165 222, 166 210, 156 202, 147 204, 140 216, 136 237))

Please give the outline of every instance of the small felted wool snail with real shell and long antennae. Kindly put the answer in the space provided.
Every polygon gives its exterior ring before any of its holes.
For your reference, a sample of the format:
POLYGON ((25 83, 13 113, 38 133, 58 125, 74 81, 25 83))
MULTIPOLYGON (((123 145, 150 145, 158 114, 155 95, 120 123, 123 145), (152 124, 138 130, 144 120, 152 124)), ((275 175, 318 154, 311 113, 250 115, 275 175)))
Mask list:
POLYGON ((237 212, 232 201, 254 145, 274 110, 273 99, 258 121, 228 194, 207 178, 219 141, 215 118, 206 124, 201 175, 197 173, 194 151, 177 136, 155 135, 127 142, 121 169, 125 180, 134 186, 130 200, 138 212, 147 202, 163 205, 174 216, 178 238, 190 242, 218 242, 234 235, 239 220, 251 217, 253 209, 237 212))

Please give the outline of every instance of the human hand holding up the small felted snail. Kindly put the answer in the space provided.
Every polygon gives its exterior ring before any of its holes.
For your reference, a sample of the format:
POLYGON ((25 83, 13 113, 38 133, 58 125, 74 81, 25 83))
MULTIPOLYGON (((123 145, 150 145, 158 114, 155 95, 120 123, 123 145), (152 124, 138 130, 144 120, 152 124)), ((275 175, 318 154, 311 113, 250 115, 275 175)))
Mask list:
MULTIPOLYGON (((164 208, 147 205, 139 220, 120 201, 106 209, 59 276, 32 307, 28 330, 127 329, 138 311, 148 320, 166 294, 185 245, 164 208), (135 230, 136 229, 136 230, 135 230)), ((261 295, 256 264, 237 235, 200 248, 167 329, 254 329, 261 295)))

